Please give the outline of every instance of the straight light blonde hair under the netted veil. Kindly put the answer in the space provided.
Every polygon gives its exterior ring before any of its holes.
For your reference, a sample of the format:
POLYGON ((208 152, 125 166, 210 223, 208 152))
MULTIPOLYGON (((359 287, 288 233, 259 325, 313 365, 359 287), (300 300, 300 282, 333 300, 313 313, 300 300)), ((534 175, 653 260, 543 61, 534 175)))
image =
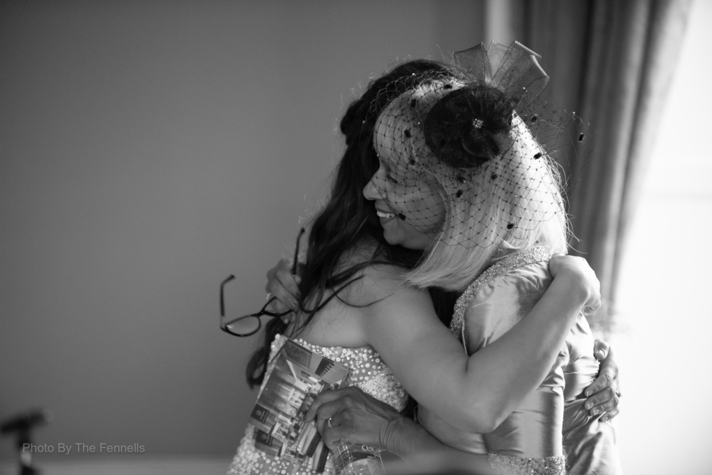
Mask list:
MULTIPOLYGON (((410 154, 421 178, 436 191, 446 213, 439 233, 419 265, 406 276, 416 287, 464 290, 486 267, 512 250, 541 245, 567 250, 569 223, 557 164, 514 114, 507 137, 497 137, 498 156, 470 169, 442 163, 425 144, 424 118, 437 100, 462 85, 443 81, 421 85, 394 100, 376 125, 374 144, 410 154), (417 106, 413 106, 412 100, 417 106), (402 131, 409 129, 411 137, 402 131)), ((380 153, 380 152, 379 152, 380 153)))

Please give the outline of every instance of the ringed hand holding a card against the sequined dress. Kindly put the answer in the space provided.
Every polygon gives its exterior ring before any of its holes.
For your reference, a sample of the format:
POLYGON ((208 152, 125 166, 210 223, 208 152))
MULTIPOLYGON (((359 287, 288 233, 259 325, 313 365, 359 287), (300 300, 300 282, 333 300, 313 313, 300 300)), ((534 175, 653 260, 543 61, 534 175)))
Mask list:
POLYGON ((409 434, 425 430, 355 386, 320 393, 306 415, 307 421, 314 418, 324 443, 331 450, 354 442, 399 453, 403 449, 399 446, 409 434))

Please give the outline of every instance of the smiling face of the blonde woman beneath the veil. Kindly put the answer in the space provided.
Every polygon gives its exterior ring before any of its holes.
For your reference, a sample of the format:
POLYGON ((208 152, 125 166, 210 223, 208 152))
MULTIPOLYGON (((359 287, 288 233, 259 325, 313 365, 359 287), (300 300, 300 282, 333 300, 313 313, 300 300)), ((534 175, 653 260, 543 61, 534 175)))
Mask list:
POLYGON ((413 153, 424 149, 418 119, 423 111, 412 105, 414 93, 394 100, 379 117, 374 134, 379 169, 363 193, 375 201, 389 244, 424 250, 440 232, 445 210, 435 191, 438 184, 426 173, 432 157, 413 153))

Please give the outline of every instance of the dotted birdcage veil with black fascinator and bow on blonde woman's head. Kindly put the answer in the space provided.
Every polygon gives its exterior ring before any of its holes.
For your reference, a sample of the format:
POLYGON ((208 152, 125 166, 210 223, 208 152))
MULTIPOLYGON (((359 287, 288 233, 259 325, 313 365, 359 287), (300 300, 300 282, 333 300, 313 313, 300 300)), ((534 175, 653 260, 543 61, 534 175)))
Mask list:
POLYGON ((567 128, 577 141, 585 132, 542 99, 538 56, 519 43, 477 46, 454 55, 451 73, 408 82, 374 131, 384 204, 446 244, 525 247, 547 227, 565 242, 555 160, 567 128))

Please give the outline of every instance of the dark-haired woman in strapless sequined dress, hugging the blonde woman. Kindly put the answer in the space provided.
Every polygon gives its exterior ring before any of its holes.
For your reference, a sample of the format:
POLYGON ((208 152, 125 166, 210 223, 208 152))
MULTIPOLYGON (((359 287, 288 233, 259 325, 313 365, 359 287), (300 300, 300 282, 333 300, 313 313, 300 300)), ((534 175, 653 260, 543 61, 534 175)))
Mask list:
MULTIPOLYGON (((436 63, 406 63, 372 82, 349 107, 341 122, 347 150, 330 201, 310 230, 299 311, 288 324, 280 319, 268 324, 265 346, 248 365, 251 384, 268 375, 270 355, 288 336, 350 365, 351 383, 395 410, 404 409, 407 390, 459 429, 491 432, 546 377, 581 309, 597 308, 597 280, 585 262, 552 260, 555 278, 526 318, 468 357, 436 316, 433 302, 446 301, 443 294, 431 292, 431 299, 423 290, 404 285, 405 274, 422 260, 424 247, 393 246, 377 207, 362 198, 363 187, 379 170, 373 130, 396 97, 449 75, 436 63), (502 371, 503 361, 508 361, 507 371, 502 371)), ((441 446, 434 438, 429 442, 441 446)), ((248 427, 229 473, 290 469, 290 464, 256 450, 253 428, 248 427)), ((326 471, 333 471, 333 465, 326 471)))

